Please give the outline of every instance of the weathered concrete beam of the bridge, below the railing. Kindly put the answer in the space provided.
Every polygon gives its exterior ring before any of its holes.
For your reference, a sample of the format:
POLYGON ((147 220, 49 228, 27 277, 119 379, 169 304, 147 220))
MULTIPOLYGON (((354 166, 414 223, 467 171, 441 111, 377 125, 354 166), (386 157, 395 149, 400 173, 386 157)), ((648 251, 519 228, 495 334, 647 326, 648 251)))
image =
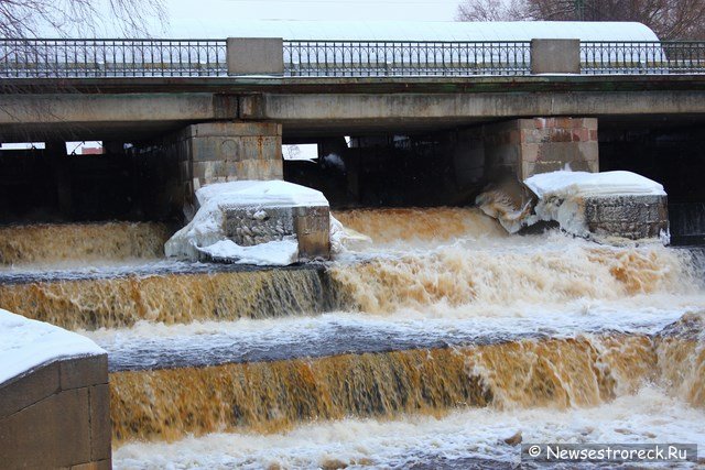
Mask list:
MULTIPOLYGON (((262 85, 257 85, 261 88, 262 85)), ((354 84, 322 92, 0 95, 3 141, 36 133, 75 140, 134 140, 183 129, 188 123, 254 120, 283 124, 286 135, 358 133, 368 130, 437 130, 534 116, 703 116, 705 90, 354 92, 354 84), (12 113, 2 111, 13 110, 12 113)), ((448 86, 449 89, 457 87, 448 86)))

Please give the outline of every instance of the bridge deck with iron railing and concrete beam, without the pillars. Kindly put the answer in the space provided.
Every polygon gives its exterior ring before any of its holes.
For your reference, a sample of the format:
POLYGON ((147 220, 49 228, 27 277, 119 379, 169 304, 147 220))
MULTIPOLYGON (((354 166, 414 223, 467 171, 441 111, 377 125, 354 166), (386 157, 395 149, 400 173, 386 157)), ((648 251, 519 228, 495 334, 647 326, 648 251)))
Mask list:
POLYGON ((3 141, 140 141, 188 123, 285 138, 518 117, 699 114, 704 43, 0 41, 3 141))

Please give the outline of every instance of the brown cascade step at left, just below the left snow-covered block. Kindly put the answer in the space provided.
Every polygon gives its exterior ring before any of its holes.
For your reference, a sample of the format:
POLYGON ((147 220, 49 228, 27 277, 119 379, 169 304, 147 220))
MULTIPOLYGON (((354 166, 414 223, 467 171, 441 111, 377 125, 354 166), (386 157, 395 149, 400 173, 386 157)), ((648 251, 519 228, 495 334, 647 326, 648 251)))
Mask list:
POLYGON ((310 315, 334 309, 323 265, 156 262, 97 271, 0 273, 3 308, 67 329, 310 315))

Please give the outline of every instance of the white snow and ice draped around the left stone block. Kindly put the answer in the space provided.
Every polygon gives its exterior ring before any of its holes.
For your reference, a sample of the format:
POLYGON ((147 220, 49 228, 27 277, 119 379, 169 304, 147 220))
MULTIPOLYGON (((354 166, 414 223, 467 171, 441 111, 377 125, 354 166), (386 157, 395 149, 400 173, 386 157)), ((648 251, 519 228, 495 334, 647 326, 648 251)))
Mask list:
POLYGON ((296 240, 240 247, 225 234, 229 207, 328 206, 323 193, 282 181, 242 181, 204 186, 196 192, 199 209, 164 245, 167 256, 197 260, 199 253, 242 264, 286 265, 296 261, 296 240))

